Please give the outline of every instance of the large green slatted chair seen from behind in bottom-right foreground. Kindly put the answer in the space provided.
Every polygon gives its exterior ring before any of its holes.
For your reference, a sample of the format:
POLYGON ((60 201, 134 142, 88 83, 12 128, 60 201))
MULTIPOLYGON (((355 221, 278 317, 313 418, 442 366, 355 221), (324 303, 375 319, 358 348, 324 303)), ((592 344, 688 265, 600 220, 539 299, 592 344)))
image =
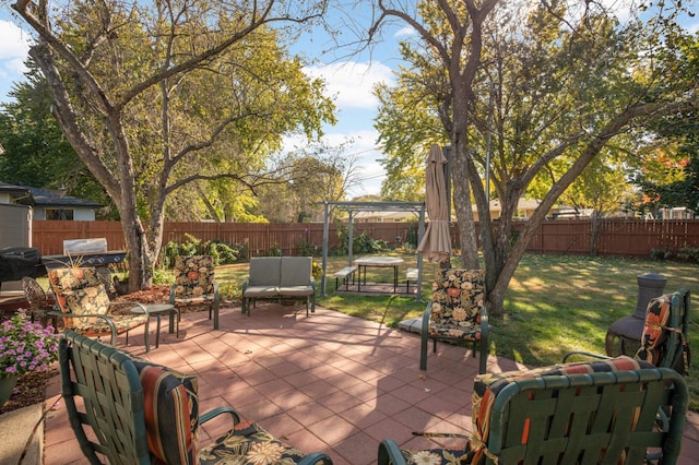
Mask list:
POLYGON ((384 439, 378 463, 645 464, 679 456, 688 406, 679 373, 630 357, 479 374, 472 402, 473 433, 454 449, 402 450, 384 439), (667 430, 656 413, 668 412, 667 430))

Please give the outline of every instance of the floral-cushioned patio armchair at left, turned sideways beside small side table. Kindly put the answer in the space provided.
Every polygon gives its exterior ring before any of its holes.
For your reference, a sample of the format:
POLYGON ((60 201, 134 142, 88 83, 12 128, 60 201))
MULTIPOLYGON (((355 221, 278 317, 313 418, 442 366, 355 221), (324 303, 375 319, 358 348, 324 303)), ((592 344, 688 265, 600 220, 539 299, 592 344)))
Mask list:
POLYGON ((110 336, 110 344, 117 343, 117 335, 145 325, 145 349, 149 350, 149 312, 140 302, 111 302, 104 284, 94 267, 52 269, 48 281, 54 289, 60 311, 51 315, 63 319, 63 327, 85 336, 110 336), (143 314, 132 314, 129 310, 139 306, 143 314))

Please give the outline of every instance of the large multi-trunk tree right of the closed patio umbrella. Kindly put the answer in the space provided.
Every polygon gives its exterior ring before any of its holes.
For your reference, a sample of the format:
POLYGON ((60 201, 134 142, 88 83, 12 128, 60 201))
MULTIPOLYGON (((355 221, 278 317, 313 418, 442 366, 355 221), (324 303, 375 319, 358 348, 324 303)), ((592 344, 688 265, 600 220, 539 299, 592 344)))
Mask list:
MULTIPOLYGON (((643 5, 645 14, 652 7, 643 5)), ((477 206, 486 299, 496 315, 536 228, 609 142, 649 117, 696 108, 697 75, 684 75, 678 65, 685 58, 676 41, 680 8, 663 3, 655 16, 625 24, 593 2, 438 0, 407 12, 379 1, 377 8, 368 40, 391 19, 419 36, 424 51, 411 72, 428 79, 411 81, 410 92, 434 97, 433 112, 453 147, 465 267, 479 266, 472 195, 477 206), (439 70, 446 86, 429 78, 439 70), (488 160, 502 206, 497 223, 482 179, 488 160), (537 181, 549 189, 513 240, 518 200, 537 181)))

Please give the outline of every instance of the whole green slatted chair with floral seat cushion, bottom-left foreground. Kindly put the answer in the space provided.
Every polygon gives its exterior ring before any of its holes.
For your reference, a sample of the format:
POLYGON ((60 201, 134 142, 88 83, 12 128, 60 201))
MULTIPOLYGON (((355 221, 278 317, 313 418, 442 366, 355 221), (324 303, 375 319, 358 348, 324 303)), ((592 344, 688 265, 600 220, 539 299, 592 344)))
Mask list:
POLYGON ((59 345, 61 392, 90 463, 332 464, 305 455, 224 406, 199 414, 197 377, 132 357, 72 331, 59 345), (200 449, 199 427, 222 414, 232 429, 200 449))

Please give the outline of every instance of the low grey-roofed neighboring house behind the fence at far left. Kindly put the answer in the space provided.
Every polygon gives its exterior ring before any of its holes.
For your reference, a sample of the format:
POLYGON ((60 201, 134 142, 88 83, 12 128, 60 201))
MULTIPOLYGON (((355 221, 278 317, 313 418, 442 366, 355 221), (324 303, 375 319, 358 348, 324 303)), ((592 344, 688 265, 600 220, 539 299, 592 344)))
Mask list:
POLYGON ((0 203, 28 205, 34 211, 34 219, 82 222, 94 222, 95 210, 104 206, 97 202, 66 195, 60 191, 4 182, 0 182, 0 203))

